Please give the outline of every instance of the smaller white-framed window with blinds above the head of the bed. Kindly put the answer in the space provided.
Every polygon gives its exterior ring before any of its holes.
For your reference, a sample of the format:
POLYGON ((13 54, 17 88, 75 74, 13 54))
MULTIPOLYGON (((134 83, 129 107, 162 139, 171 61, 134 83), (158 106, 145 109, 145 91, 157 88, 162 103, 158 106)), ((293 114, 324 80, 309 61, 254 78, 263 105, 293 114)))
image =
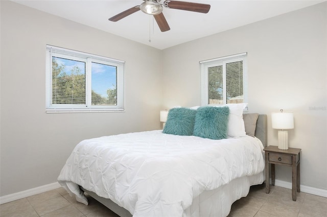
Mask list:
POLYGON ((202 105, 247 103, 247 53, 200 62, 202 105))

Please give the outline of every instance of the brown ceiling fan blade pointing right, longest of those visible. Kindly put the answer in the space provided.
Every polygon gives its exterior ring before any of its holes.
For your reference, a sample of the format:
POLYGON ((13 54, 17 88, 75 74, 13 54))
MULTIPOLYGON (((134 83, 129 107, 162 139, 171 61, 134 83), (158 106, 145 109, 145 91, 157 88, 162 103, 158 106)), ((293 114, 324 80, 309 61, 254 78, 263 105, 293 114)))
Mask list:
POLYGON ((170 1, 167 0, 164 2, 164 6, 166 8, 173 8, 185 11, 193 11, 199 13, 208 13, 210 10, 210 5, 207 4, 199 4, 192 2, 181 2, 181 1, 170 1))

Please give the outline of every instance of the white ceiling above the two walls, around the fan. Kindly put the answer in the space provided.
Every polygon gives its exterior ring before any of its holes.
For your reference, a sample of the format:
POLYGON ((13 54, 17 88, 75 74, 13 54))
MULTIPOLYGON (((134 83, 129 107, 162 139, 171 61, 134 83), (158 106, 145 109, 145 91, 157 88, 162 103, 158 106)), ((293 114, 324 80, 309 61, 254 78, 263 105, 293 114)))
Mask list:
MULTIPOLYGON (((207 14, 164 8, 171 28, 160 32, 153 16, 142 11, 117 22, 108 20, 122 11, 143 3, 142 0, 12 0, 50 14, 128 38, 157 49, 212 35, 279 14, 315 5, 322 1, 265 0, 265 1, 199 1, 179 0, 211 5, 207 14), (149 39, 151 38, 151 42, 149 39)), ((161 2, 163 2, 162 0, 161 2)))

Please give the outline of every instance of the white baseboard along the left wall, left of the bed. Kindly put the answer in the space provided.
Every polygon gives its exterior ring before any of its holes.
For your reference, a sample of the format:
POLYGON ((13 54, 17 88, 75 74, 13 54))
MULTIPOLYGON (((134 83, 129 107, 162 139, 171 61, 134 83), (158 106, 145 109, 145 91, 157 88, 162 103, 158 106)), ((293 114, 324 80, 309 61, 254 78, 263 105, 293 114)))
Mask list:
POLYGON ((11 195, 6 195, 3 197, 0 197, 0 204, 4 204, 4 203, 11 202, 11 201, 19 200, 22 198, 37 195, 37 194, 43 193, 45 191, 53 190, 53 189, 56 189, 59 187, 61 187, 61 185, 58 182, 55 182, 52 184, 42 185, 42 186, 31 188, 28 190, 20 191, 20 192, 11 194, 11 195))

